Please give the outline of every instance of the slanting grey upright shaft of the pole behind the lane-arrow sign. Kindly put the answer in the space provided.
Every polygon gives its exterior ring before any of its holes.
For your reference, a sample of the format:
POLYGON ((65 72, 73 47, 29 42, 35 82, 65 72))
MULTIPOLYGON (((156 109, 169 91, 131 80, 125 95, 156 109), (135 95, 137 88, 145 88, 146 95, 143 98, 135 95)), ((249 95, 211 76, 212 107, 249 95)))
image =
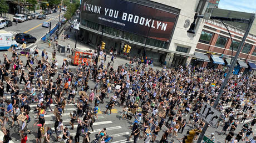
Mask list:
MULTIPOLYGON (((216 106, 218 106, 218 104, 219 104, 220 97, 221 97, 221 95, 223 94, 223 90, 224 90, 225 86, 226 86, 227 83, 228 83, 228 79, 229 79, 230 75, 231 75, 232 72, 233 72, 233 69, 234 69, 234 67, 235 67, 235 63, 237 63, 237 59, 238 59, 238 56, 239 56, 239 54, 240 54, 240 52, 241 52, 241 50, 242 50, 242 47, 243 47, 244 42, 245 42, 245 39, 247 38, 247 36, 248 36, 248 34, 249 34, 249 31, 250 31, 250 28, 252 27, 254 17, 255 17, 255 14, 252 14, 252 16, 251 16, 250 19, 249 19, 249 23, 248 23, 247 30, 245 31, 244 37, 243 37, 241 43, 239 44, 237 53, 235 54, 234 60, 232 61, 232 64, 230 65, 230 68, 229 68, 229 70, 228 70, 228 74, 226 75, 226 77, 225 77, 225 79, 224 79, 224 81, 223 81, 223 84, 221 85, 219 94, 218 94, 218 96, 217 96, 216 99, 215 99, 215 102, 214 102, 214 105, 213 105, 214 108, 216 108, 216 106)), ((228 19, 228 18, 227 18, 227 19, 228 19)), ((197 143, 201 143, 201 141, 203 140, 205 131, 207 130, 207 127, 208 127, 208 126, 209 126, 209 124, 208 124, 207 122, 205 122, 204 128, 203 128, 203 130, 201 131, 201 134, 200 134, 200 136, 199 136, 199 139, 198 139, 197 143)))

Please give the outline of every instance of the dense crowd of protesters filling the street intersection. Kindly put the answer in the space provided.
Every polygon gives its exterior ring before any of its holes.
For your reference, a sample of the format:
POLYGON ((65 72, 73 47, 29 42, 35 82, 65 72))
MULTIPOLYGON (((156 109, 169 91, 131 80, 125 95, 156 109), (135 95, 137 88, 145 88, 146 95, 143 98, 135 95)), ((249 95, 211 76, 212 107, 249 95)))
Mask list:
MULTIPOLYGON (((17 133, 21 142, 27 141, 28 134, 31 134, 28 124, 33 124, 30 122, 33 111, 38 119, 34 123, 38 127, 36 142, 52 142, 54 132, 55 141, 80 142, 82 136, 83 142, 90 142, 90 128, 93 131, 99 105, 104 102, 107 103, 104 114, 111 115, 114 106, 122 106, 120 119, 134 118, 127 140, 133 137, 132 142, 138 139, 144 139, 144 142, 174 142, 171 138, 182 134, 184 137, 177 139, 186 142, 189 140, 188 132, 184 132, 186 126, 196 129, 194 140, 197 140, 205 125, 199 117, 201 106, 204 102, 213 105, 225 78, 225 72, 219 69, 179 66, 153 70, 147 66, 148 63, 141 64, 141 60, 130 62, 133 66, 123 64, 114 69, 110 62, 106 63, 104 52, 100 52, 98 66, 94 60, 89 63, 81 61, 76 69, 69 69, 70 63, 66 59, 58 68, 56 58, 49 59, 45 50, 40 52, 36 49, 28 55, 26 65, 15 49, 12 57, 3 55, 0 70, 3 142, 11 140, 9 130, 13 126, 19 127, 17 133), (95 85, 89 86, 89 80, 95 85), (78 94, 78 91, 85 92, 78 94), (7 99, 8 94, 11 99, 7 99), (35 110, 31 110, 30 103, 37 104, 35 110), (72 103, 76 104, 77 110, 70 114, 72 127, 68 129, 62 123, 62 114, 66 105, 72 103), (55 104, 55 108, 52 109, 51 104, 55 104), (45 125, 47 108, 56 116, 54 131, 45 125), (26 119, 18 120, 19 115, 26 116, 26 119), (187 116, 189 120, 185 119, 187 116), (77 128, 73 137, 69 130, 75 129, 74 124, 77 128), (164 134, 160 135, 160 130, 164 134)), ((94 59, 97 52, 93 55, 94 59)), ((114 55, 111 55, 111 62, 114 62, 114 55)), ((252 130, 256 122, 255 85, 255 77, 240 74, 230 77, 217 106, 222 112, 218 124, 222 131, 216 132, 227 136, 223 142, 255 142, 252 130), (242 130, 236 130, 239 124, 243 126, 242 130)), ((102 129, 99 135, 99 140, 104 142, 106 129, 102 129)), ((209 138, 214 141, 214 133, 209 138)))

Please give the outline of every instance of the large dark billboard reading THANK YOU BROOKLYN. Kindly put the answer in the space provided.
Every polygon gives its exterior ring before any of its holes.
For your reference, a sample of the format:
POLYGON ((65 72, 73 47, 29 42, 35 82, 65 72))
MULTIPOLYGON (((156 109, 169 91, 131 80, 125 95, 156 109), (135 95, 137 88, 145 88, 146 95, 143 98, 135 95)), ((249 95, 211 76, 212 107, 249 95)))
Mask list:
POLYGON ((116 29, 168 41, 177 14, 123 0, 83 0, 81 18, 116 29))

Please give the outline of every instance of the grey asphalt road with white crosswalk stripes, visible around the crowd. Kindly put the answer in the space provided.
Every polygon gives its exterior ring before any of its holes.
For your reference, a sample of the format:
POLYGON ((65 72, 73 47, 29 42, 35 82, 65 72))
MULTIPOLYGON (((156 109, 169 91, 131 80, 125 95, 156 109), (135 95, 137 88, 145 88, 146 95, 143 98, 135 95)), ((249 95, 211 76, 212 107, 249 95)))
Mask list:
MULTIPOLYGON (((18 23, 18 25, 16 25, 15 23, 13 23, 12 27, 8 27, 5 28, 4 30, 7 30, 13 34, 16 33, 21 33, 21 32, 26 32, 28 34, 33 35, 34 37, 36 37, 38 40, 37 42, 40 42, 40 38, 45 35, 48 32, 48 28, 44 28, 42 27, 42 23, 43 22, 52 22, 52 25, 56 25, 58 22, 58 13, 53 13, 47 16, 47 19, 43 19, 43 20, 38 20, 38 19, 33 19, 31 21, 27 21, 27 22, 23 22, 23 23, 18 23)), ((28 48, 32 48, 35 47, 36 43, 29 43, 27 44, 28 48)), ((2 55, 2 53, 7 53, 6 51, 4 52, 0 52, 0 55, 2 55)), ((8 52, 8 57, 11 57, 11 53, 8 52)), ((3 57, 0 56, 0 59, 3 61, 2 59, 3 57)), ((26 64, 26 58, 22 57, 23 63, 26 64)), ((107 60, 110 60, 109 58, 107 58, 107 60)), ((61 61, 61 60, 60 60, 61 61)), ((116 59, 115 63, 119 63, 122 64, 122 62, 120 62, 121 60, 116 59)), ((61 73, 61 71, 60 71, 61 73)), ((56 77, 55 77, 56 78, 56 77)), ((89 86, 90 88, 93 88, 95 83, 93 81, 89 81, 89 86)), ((5 88, 6 88, 6 84, 4 84, 5 88)), ((21 85, 18 85, 20 89, 23 88, 24 83, 22 83, 21 85)), ((6 90, 4 90, 6 91, 6 90)), ((111 94, 112 95, 112 94, 111 94)), ((7 98, 11 98, 11 95, 6 94, 5 95, 7 98)), ((76 95, 78 97, 78 95, 76 95)), ((106 103, 109 101, 109 99, 105 99, 105 103, 104 104, 100 104, 100 110, 101 111, 105 111, 105 105, 106 103)), ((36 107, 36 104, 30 104, 31 105, 31 113, 29 114, 29 116, 31 117, 31 122, 29 122, 28 125, 28 129, 32 131, 31 135, 28 135, 29 139, 28 142, 36 142, 36 131, 37 131, 37 127, 33 126, 33 123, 36 122, 36 119, 34 118, 35 113, 33 112, 33 110, 36 107)), ((54 109, 54 105, 52 105, 52 109, 54 109)), ((48 109, 47 109, 48 110, 48 109)), ((65 113, 62 115, 62 119, 63 119, 63 124, 65 126, 69 126, 69 121, 70 121, 70 113, 76 110, 76 106, 73 104, 69 104, 66 106, 66 110, 65 113)), ((115 106, 114 109, 112 109, 112 114, 111 115, 107 115, 107 114, 101 114, 99 113, 99 120, 97 120, 94 125, 93 125, 93 129, 94 131, 92 132, 92 134, 90 135, 91 140, 93 140, 94 134, 96 134, 96 132, 100 131, 103 127, 107 128, 107 134, 110 136, 113 136, 114 139, 112 142, 126 142, 127 137, 130 136, 131 130, 129 129, 128 126, 130 126, 132 124, 132 122, 134 121, 134 119, 132 120, 120 120, 121 114, 120 111, 122 110, 122 107, 120 106, 115 106)), ((188 116, 183 116, 184 119, 186 119, 187 121, 189 120, 188 116)), ((47 114, 45 116, 46 119, 46 126, 50 126, 53 127, 54 126, 54 122, 55 122, 55 116, 53 115, 53 113, 51 113, 50 111, 47 111, 47 114)), ((250 120, 247 120, 246 122, 249 122, 250 120)), ((9 122, 9 124, 11 124, 11 122, 9 122)), ((16 123, 17 125, 17 123, 16 123)), ((77 125, 77 123, 75 123, 75 125, 77 125)), ((235 133, 237 133, 238 131, 240 131, 242 129, 242 124, 238 125, 238 129, 235 130, 235 133)), ((6 125, 6 127, 9 127, 9 125, 6 125)), ((187 125, 184 129, 183 134, 178 133, 178 138, 183 137, 186 134, 186 131, 188 131, 190 129, 190 125, 187 125)), ((18 130, 19 127, 14 126, 11 129, 11 137, 12 137, 12 141, 13 142, 20 142, 20 137, 18 135, 18 130)), ((166 130, 166 127, 164 126, 162 128, 162 130, 159 132, 159 136, 157 136, 156 138, 156 142, 160 141, 161 136, 163 135, 163 131, 166 130)), ((218 129, 213 129, 213 127, 208 127, 208 130, 206 131, 205 135, 210 135, 211 132, 215 133, 215 142, 224 142, 224 139, 226 137, 226 135, 218 135, 218 132, 222 130, 222 126, 220 126, 218 129)), ((75 132, 76 132, 76 126, 74 130, 70 130, 71 131, 71 135, 73 135, 73 137, 75 136, 75 132)), ((253 128, 253 131, 255 132, 256 129, 255 127, 253 128)), ((142 134, 142 132, 141 132, 142 134)), ((55 140, 55 134, 52 134, 51 136, 51 142, 53 142, 53 140, 55 140)), ((252 137, 252 135, 250 136, 252 137)), ((179 142, 176 138, 169 138, 170 140, 173 139, 174 142, 179 142)), ((80 137, 80 142, 82 140, 82 137, 80 137)), ((170 141, 169 140, 169 141, 170 141)), ((140 139, 137 142, 144 142, 143 139, 140 139)))

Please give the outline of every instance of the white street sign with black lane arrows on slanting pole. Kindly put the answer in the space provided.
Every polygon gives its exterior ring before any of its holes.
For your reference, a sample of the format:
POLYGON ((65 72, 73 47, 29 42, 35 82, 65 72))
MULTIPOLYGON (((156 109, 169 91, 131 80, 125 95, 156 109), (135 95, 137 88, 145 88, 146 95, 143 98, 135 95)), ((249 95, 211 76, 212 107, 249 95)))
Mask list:
POLYGON ((218 124, 220 115, 221 115, 220 111, 213 108, 206 102, 204 102, 199 114, 200 118, 204 119, 212 127, 216 127, 216 125, 218 124))

